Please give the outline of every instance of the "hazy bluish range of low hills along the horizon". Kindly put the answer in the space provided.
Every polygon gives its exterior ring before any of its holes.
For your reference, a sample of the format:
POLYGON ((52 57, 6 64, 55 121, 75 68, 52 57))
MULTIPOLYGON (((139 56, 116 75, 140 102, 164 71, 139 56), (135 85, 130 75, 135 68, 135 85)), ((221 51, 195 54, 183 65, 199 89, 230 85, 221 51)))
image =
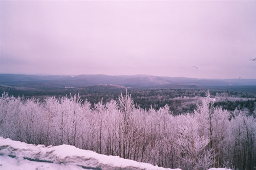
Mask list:
POLYGON ((29 88, 65 88, 105 84, 132 88, 200 88, 214 86, 256 86, 256 79, 194 79, 150 75, 40 76, 0 74, 0 84, 29 88))

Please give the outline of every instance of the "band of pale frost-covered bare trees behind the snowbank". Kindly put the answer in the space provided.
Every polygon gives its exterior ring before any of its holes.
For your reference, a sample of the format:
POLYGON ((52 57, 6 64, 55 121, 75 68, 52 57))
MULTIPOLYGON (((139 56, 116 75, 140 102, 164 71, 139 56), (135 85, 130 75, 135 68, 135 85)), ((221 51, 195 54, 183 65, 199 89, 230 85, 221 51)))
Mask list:
MULTIPOLYGON (((204 94, 198 91, 202 96, 186 91, 184 96, 171 99, 202 100, 195 103, 193 112, 181 114, 174 114, 170 109, 173 106, 168 105, 159 106, 159 109, 154 105, 149 109, 141 108, 127 91, 124 95, 119 93, 118 99, 105 103, 101 98, 93 107, 79 95, 25 98, 3 93, 0 135, 46 146, 70 144, 100 154, 183 170, 254 169, 255 101, 254 109, 241 109, 242 105, 247 105, 246 98, 240 107, 228 111, 219 106, 218 100, 223 95, 218 92, 213 97, 205 91, 204 94)), ((166 91, 164 93, 167 95, 166 91)), ((226 94, 226 98, 231 97, 231 93, 226 94)), ((164 96, 160 94, 158 99, 161 98, 164 96)))

